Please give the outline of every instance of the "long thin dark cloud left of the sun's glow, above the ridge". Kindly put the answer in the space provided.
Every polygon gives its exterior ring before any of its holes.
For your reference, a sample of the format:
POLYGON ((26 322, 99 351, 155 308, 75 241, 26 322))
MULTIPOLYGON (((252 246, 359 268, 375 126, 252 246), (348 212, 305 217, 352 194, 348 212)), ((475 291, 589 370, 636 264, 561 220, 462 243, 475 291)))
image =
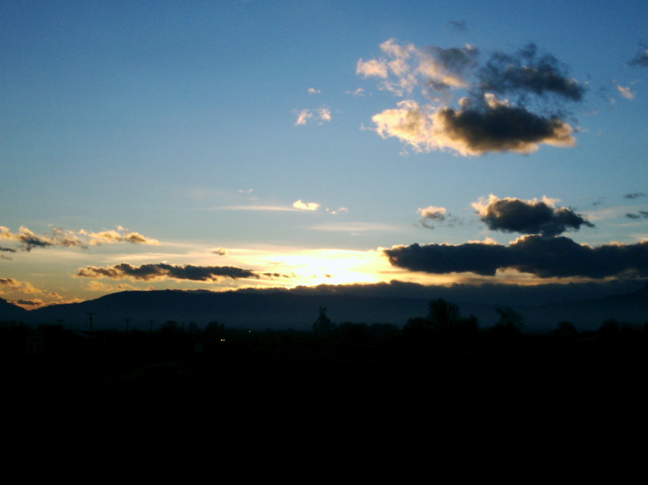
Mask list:
POLYGON ((217 281, 222 278, 259 278, 259 275, 238 267, 232 266, 193 266, 193 265, 167 265, 166 263, 152 263, 141 266, 131 266, 120 263, 110 267, 88 266, 79 269, 78 277, 84 278, 111 278, 111 279, 139 279, 153 281, 156 279, 188 279, 191 281, 217 281))

